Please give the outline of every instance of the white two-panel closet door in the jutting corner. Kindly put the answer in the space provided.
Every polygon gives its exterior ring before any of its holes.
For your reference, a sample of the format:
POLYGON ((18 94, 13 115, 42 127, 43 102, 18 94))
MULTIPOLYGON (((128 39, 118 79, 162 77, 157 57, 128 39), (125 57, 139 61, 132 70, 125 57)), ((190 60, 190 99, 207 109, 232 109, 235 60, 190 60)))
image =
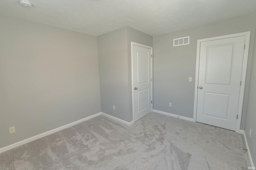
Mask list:
POLYGON ((134 121, 151 112, 152 50, 132 46, 134 121))

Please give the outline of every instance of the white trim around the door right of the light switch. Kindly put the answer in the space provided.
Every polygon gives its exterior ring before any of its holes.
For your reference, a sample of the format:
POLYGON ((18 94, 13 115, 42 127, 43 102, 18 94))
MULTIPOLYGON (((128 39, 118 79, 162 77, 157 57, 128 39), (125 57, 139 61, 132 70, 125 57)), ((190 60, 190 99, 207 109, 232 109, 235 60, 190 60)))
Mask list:
POLYGON ((238 103, 238 119, 236 121, 236 132, 240 132, 240 124, 241 124, 241 116, 242 116, 242 107, 244 100, 244 88, 245 88, 245 79, 246 79, 246 70, 247 70, 247 62, 248 62, 248 53, 249 53, 249 44, 250 44, 250 34, 251 31, 236 33, 230 35, 223 35, 219 37, 211 37, 206 39, 198 39, 197 40, 197 51, 196 51, 196 77, 195 77, 195 97, 194 97, 194 116, 193 121, 196 122, 196 111, 197 111, 197 95, 198 95, 198 74, 199 74, 199 57, 200 57, 200 43, 204 41, 212 41, 217 39, 225 39, 232 37, 245 36, 245 49, 244 49, 244 58, 243 58, 243 66, 242 66, 242 76, 241 81, 242 84, 240 86, 239 93, 239 103, 238 103))

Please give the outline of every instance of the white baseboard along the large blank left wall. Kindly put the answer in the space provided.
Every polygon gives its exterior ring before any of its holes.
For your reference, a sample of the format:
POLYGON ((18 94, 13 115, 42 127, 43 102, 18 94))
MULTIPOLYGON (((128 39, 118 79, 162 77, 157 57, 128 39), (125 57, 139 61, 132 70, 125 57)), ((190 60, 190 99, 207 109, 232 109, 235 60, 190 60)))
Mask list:
POLYGON ((91 116, 88 116, 88 117, 86 117, 86 118, 80 119, 80 120, 78 120, 78 121, 74 121, 74 122, 69 123, 69 124, 67 124, 67 125, 64 125, 64 126, 61 126, 61 127, 57 127, 56 129, 52 129, 52 130, 50 130, 50 131, 41 133, 41 134, 39 134, 39 135, 30 137, 30 138, 28 138, 28 139, 25 139, 25 140, 23 140, 23 141, 14 143, 14 144, 9 145, 9 146, 7 146, 7 147, 0 148, 0 153, 5 152, 5 151, 10 150, 10 149, 13 149, 13 148, 16 148, 16 147, 19 147, 20 145, 24 145, 24 144, 26 144, 26 143, 32 142, 32 141, 34 141, 34 140, 36 140, 36 139, 39 139, 39 138, 41 138, 41 137, 45 137, 45 136, 47 136, 47 135, 50 135, 50 134, 55 133, 55 132, 57 132, 57 131, 60 131, 60 130, 62 130, 62 129, 66 129, 66 128, 70 127, 70 126, 73 126, 73 125, 76 125, 76 124, 81 123, 81 122, 83 122, 83 121, 92 119, 93 117, 96 117, 96 116, 99 116, 99 115, 101 115, 101 112, 100 112, 100 113, 96 113, 96 114, 91 115, 91 116))

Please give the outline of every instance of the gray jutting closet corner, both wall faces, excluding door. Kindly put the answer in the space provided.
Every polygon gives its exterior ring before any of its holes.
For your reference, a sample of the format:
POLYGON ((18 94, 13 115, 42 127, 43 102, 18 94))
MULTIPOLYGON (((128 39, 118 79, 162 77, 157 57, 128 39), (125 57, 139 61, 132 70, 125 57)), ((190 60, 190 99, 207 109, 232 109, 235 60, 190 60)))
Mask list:
POLYGON ((123 27, 97 39, 102 112, 130 122, 133 118, 131 42, 152 46, 153 37, 123 27))

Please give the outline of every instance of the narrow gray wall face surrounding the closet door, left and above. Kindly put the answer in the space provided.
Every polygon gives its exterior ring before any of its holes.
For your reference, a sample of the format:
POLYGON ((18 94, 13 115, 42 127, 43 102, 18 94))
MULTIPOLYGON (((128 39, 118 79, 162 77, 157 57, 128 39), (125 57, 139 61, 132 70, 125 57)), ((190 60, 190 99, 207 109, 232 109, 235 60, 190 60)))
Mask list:
POLYGON ((127 27, 127 45, 128 45, 128 89, 129 89, 129 113, 130 113, 130 120, 132 121, 132 42, 140 43, 143 45, 148 45, 153 47, 153 37, 146 33, 142 33, 137 29, 133 29, 131 27, 127 27))

